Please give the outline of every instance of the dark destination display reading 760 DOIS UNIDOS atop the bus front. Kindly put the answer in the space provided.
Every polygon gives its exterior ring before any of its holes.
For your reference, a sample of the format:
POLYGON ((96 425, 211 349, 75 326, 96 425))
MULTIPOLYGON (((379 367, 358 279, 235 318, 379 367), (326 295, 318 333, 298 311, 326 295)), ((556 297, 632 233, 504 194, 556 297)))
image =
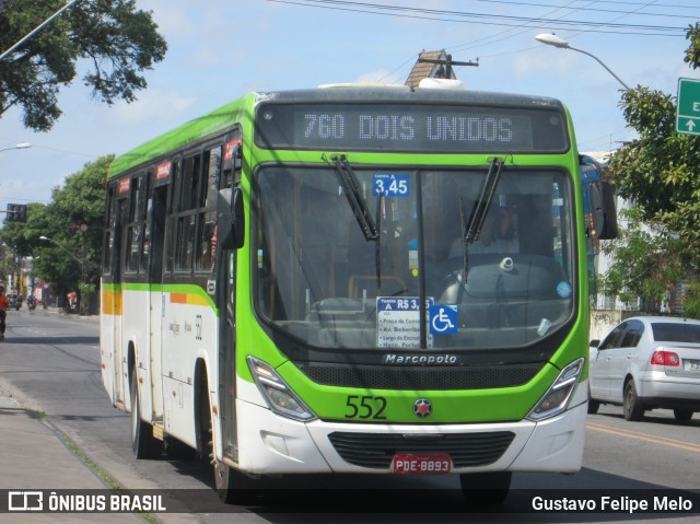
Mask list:
POLYGON ((411 104, 269 104, 257 143, 269 149, 415 152, 560 152, 564 120, 552 109, 411 104))

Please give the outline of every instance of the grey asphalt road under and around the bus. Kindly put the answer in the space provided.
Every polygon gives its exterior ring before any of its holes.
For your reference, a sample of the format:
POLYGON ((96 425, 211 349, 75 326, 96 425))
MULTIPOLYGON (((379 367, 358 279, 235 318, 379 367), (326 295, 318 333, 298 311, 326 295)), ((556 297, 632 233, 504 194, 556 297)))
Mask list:
POLYGON ((700 490, 700 414, 690 423, 678 424, 670 411, 658 410, 633 423, 622 418, 621 408, 603 406, 588 418, 584 468, 572 476, 514 475, 514 489, 498 512, 465 513, 453 476, 319 476, 272 479, 266 486, 290 486, 291 480, 296 489, 277 491, 284 496, 262 498, 255 506, 223 508, 234 513, 220 513, 222 506, 211 490, 206 465, 165 456, 155 461, 132 457, 129 418, 110 406, 102 386, 96 317, 23 310, 10 313, 8 322, 7 339, 0 342, 0 388, 46 414, 50 423, 121 486, 184 490, 188 514, 159 515, 163 522, 690 523, 697 522, 700 512, 700 508, 686 515, 533 511, 538 497, 561 499, 574 490, 591 490, 579 493, 588 493, 598 503, 599 497, 625 497, 617 490, 644 490, 632 493, 646 494, 667 488, 700 490), (331 519, 327 511, 334 512, 331 519))

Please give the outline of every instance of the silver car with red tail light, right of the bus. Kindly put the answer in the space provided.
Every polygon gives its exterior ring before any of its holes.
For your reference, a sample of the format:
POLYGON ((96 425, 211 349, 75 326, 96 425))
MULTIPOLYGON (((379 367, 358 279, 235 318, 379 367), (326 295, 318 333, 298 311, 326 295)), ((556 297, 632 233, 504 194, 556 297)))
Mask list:
POLYGON ((591 346, 590 414, 615 404, 627 420, 641 420, 665 408, 686 422, 700 411, 700 321, 632 317, 591 346))

